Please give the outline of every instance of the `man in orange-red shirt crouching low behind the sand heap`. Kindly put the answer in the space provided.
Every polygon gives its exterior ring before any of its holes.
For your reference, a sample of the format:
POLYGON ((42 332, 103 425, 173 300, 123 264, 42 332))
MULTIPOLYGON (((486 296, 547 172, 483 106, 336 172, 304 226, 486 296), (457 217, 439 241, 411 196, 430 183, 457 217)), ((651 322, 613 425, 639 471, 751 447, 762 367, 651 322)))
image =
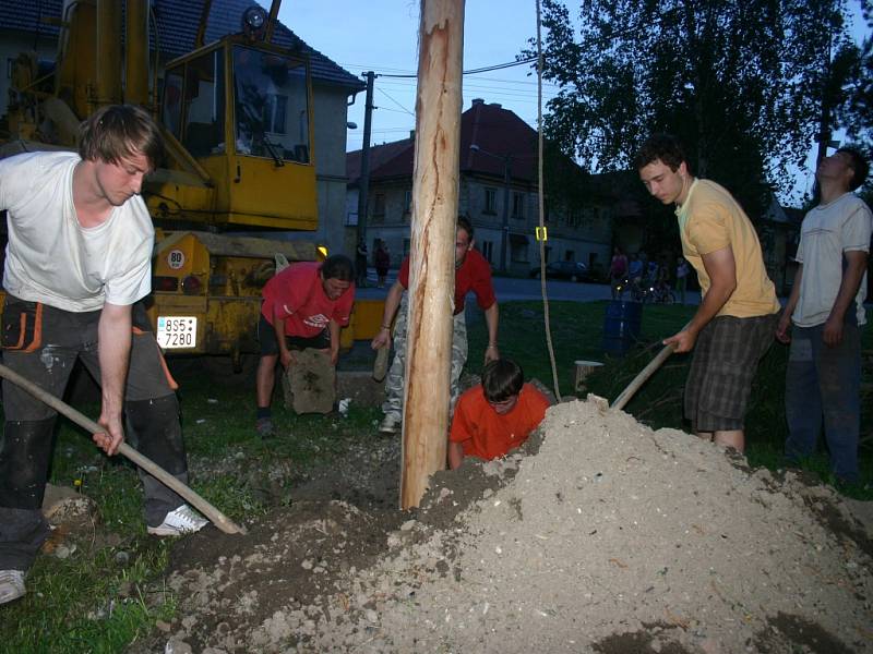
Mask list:
POLYGON ((490 461, 518 447, 546 416, 549 400, 525 384, 521 366, 507 359, 492 361, 482 383, 457 401, 449 433, 449 468, 464 457, 490 461))

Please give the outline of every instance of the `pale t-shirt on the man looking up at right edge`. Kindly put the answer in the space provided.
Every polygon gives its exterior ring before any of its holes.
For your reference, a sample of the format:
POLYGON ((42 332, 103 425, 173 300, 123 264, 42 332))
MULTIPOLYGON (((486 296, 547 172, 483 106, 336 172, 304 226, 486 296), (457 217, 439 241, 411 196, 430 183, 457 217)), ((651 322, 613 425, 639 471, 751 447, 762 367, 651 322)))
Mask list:
MULTIPOLYGON (((873 215, 853 193, 846 193, 812 209, 800 228, 798 263, 803 264, 800 296, 791 320, 800 327, 827 322, 842 281, 842 253, 870 252, 873 215)), ((866 271, 856 296, 858 324, 864 325, 866 271)))

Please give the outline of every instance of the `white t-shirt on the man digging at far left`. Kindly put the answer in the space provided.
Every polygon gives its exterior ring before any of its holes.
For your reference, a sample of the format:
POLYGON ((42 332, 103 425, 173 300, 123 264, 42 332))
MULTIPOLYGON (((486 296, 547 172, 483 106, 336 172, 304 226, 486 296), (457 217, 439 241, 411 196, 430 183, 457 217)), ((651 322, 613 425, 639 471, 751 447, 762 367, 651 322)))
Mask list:
POLYGON ((3 288, 71 312, 133 304, 152 287, 155 230, 139 195, 103 225, 83 228, 73 206, 74 153, 28 153, 0 161, 7 209, 3 288))

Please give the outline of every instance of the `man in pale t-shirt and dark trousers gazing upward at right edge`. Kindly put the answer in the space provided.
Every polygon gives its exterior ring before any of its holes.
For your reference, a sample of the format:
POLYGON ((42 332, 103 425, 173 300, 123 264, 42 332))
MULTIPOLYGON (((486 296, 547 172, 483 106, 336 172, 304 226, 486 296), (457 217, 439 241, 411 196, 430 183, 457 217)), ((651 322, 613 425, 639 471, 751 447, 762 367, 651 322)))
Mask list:
POLYGON ((791 342, 786 373, 786 459, 815 451, 824 422, 830 465, 841 482, 857 483, 861 427, 861 329, 866 323, 866 262, 873 216, 852 191, 870 166, 853 148, 822 160, 815 177, 818 206, 800 231, 798 271, 776 337, 791 342), (793 329, 789 337, 789 328, 793 329))

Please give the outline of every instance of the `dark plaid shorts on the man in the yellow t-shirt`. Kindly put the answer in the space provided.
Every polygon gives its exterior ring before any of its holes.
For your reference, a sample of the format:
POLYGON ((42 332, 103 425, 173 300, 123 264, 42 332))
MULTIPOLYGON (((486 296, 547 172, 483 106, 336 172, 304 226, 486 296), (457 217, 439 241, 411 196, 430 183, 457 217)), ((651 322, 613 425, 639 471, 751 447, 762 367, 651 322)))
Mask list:
POLYGON ((685 417, 695 432, 742 429, 757 363, 777 315, 717 316, 701 330, 685 383, 685 417))

